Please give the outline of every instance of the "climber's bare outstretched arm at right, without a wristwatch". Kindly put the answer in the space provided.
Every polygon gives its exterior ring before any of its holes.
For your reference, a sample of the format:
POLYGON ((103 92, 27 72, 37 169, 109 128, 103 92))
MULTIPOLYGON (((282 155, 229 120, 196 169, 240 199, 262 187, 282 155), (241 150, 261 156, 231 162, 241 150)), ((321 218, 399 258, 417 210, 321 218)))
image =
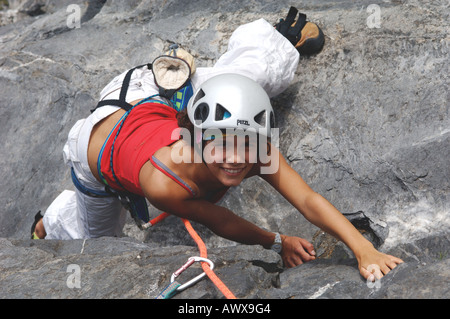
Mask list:
MULTIPOLYGON (((278 153, 279 168, 275 173, 261 177, 280 192, 308 221, 344 242, 355 254, 360 273, 364 278, 375 279, 371 277, 372 273, 368 269, 375 269, 374 275, 381 278, 402 262, 399 258, 378 252, 344 215, 306 184, 278 150, 272 149, 278 153)), ((277 156, 276 153, 273 156, 277 156)))

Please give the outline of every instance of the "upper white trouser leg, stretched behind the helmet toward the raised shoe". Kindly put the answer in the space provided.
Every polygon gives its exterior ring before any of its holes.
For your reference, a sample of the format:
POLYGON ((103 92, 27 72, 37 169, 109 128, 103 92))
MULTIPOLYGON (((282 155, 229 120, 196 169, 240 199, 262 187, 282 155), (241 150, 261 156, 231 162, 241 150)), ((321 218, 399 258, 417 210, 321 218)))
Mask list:
MULTIPOLYGON (((292 82, 300 54, 297 49, 264 19, 237 28, 228 50, 214 67, 197 67, 192 76, 194 90, 207 79, 224 73, 237 73, 258 82, 270 97, 283 92, 292 82)), ((100 98, 119 98, 128 71, 116 76, 101 92, 100 98)), ((153 73, 146 66, 131 75, 127 102, 158 94, 153 73)))

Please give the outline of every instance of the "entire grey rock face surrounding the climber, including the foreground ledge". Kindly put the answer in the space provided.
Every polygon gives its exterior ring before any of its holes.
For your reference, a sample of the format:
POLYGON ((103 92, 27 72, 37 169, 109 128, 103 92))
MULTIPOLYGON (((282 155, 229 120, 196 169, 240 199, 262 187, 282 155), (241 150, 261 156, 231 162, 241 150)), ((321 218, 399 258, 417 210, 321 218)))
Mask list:
MULTIPOLYGON (((197 65, 211 66, 239 25, 276 22, 289 5, 9 1, 0 11, 0 297, 151 298, 198 254, 172 217, 146 233, 130 222, 120 239, 27 238, 35 212, 73 189, 61 154, 67 133, 114 76, 152 61, 173 42, 197 65), (79 287, 69 280, 77 269, 79 287)), ((217 274, 240 298, 448 298, 448 4, 296 6, 322 27, 326 43, 317 56, 301 58, 292 85, 273 99, 280 148, 380 250, 407 263, 368 287, 342 243, 250 179, 220 204, 261 227, 312 241, 321 258, 286 270, 272 252, 195 225, 217 274)), ((221 297, 207 279, 175 296, 221 297)))

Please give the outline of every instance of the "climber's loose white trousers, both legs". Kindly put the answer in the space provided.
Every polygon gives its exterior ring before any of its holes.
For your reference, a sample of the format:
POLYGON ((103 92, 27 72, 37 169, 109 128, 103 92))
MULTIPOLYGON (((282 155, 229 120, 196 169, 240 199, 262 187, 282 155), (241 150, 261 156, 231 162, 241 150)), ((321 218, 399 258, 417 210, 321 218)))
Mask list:
MULTIPOLYGON (((270 97, 283 92, 294 78, 299 53, 267 21, 260 19, 240 26, 230 37, 227 52, 212 68, 197 68, 192 76, 194 91, 207 79, 224 73, 237 73, 258 82, 270 97)), ((101 92, 101 100, 118 99, 127 72, 113 79, 101 92)), ((133 72, 126 101, 143 99, 158 93, 153 74, 146 66, 133 72)), ((92 128, 118 108, 103 106, 88 118, 79 120, 70 130, 63 154, 80 182, 93 190, 104 185, 92 175, 87 148, 92 128)), ((79 239, 119 236, 126 211, 116 198, 95 198, 78 190, 63 191, 44 214, 46 239, 79 239)))

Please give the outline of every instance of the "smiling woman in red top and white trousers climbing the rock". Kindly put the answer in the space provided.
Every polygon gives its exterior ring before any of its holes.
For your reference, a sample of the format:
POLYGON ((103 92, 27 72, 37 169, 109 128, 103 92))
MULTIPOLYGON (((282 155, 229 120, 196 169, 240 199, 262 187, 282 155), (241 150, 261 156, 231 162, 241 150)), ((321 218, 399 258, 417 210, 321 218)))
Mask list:
POLYGON ((302 14, 294 21, 296 13, 291 9, 276 27, 260 19, 236 29, 214 67, 192 70, 193 94, 182 111, 162 97, 149 66, 116 77, 101 93, 102 106, 70 130, 63 154, 77 188, 36 218, 34 236, 120 235, 125 210, 110 193, 126 191, 224 238, 274 249, 286 267, 314 260, 307 240, 261 229, 214 204, 229 187, 258 175, 308 221, 344 242, 364 278, 380 278, 401 263, 377 251, 270 143, 270 98, 290 84, 299 52, 323 45, 319 27, 302 14), (121 102, 109 105, 112 100, 121 102), (370 265, 377 265, 373 273, 370 265))

